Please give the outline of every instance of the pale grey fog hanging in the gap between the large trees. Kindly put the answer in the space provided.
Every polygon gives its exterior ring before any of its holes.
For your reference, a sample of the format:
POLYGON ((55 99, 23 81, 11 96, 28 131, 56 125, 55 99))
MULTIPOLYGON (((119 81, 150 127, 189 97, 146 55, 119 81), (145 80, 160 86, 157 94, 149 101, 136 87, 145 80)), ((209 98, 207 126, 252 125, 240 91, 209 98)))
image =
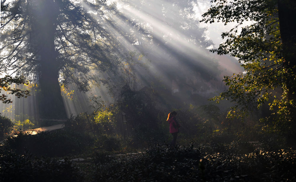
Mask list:
MULTIPOLYGON (((88 92, 81 92, 74 85, 68 85, 68 90, 62 88, 68 117, 91 113, 93 109, 89 106, 94 104, 94 98, 100 97, 106 105, 113 102, 126 84, 132 90, 150 87, 152 83, 164 85, 180 102, 208 104, 207 99, 226 89, 223 75, 242 71, 236 59, 209 52, 223 41, 221 32, 231 26, 199 22, 201 14, 211 5, 209 1, 193 5, 185 1, 108 2, 114 8, 115 3, 117 13, 109 16, 104 28, 121 44, 114 58, 121 64, 115 71, 91 71, 90 74, 99 75, 99 79, 107 82, 91 84, 88 92), (196 95, 202 99, 192 100, 196 95)), ((95 12, 87 3, 83 6, 95 12)), ((12 104, 0 104, 6 116, 38 117, 38 99, 34 93, 28 98, 12 97, 12 100, 12 104)))

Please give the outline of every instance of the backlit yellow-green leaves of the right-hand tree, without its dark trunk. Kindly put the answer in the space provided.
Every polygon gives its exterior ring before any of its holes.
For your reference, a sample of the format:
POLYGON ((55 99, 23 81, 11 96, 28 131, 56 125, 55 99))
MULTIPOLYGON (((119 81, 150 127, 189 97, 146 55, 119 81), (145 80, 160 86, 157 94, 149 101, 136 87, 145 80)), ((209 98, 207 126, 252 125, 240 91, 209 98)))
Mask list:
MULTIPOLYGON (((278 121, 291 121, 290 110, 295 101, 289 100, 287 83, 296 77, 295 66, 285 61, 279 27, 277 1, 275 0, 214 0, 202 16, 202 21, 213 23, 237 22, 237 25, 221 34, 225 42, 211 50, 238 58, 245 71, 223 79, 229 89, 212 100, 222 99, 236 103, 228 117, 242 117, 246 111, 258 109, 269 103, 278 121), (242 22, 251 24, 242 27, 242 22), (291 67, 291 68, 289 68, 291 67)), ((289 85, 290 86, 290 85, 289 85)), ((275 121, 275 120, 274 120, 275 121)))

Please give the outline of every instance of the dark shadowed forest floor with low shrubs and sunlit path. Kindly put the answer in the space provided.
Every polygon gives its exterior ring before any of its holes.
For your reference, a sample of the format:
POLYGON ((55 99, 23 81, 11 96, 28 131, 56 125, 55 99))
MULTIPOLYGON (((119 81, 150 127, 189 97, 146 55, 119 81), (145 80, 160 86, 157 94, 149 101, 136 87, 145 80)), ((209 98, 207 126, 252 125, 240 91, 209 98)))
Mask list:
POLYGON ((44 181, 73 182, 296 181, 296 152, 278 145, 281 138, 232 142, 213 138, 194 147, 171 149, 151 144, 149 148, 127 147, 115 151, 112 146, 116 147, 116 140, 106 137, 88 140, 89 135, 83 135, 80 128, 74 132, 62 123, 41 126, 7 139, 9 148, 0 147, 3 181, 17 181, 17 178, 26 181, 32 176, 44 181), (34 135, 35 132, 38 134, 34 135), (14 175, 20 171, 20 175, 14 175))

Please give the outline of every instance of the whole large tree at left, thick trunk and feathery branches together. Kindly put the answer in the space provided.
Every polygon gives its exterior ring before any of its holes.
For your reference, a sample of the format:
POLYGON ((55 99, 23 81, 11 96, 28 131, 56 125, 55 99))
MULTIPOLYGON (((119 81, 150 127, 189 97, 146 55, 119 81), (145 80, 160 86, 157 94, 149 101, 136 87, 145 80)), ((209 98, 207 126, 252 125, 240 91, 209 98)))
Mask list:
POLYGON ((66 117, 60 83, 87 91, 89 80, 99 80, 92 70, 112 69, 118 43, 104 29, 105 3, 1 0, 0 70, 38 82, 41 117, 66 117))

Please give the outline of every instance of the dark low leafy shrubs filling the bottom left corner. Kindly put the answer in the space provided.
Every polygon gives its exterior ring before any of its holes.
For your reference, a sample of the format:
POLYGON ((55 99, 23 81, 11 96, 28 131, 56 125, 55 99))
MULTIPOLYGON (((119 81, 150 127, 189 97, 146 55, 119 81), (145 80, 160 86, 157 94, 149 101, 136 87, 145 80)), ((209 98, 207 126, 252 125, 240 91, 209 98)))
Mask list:
POLYGON ((64 161, 33 158, 30 153, 18 155, 4 146, 0 148, 0 166, 0 181, 78 182, 83 179, 79 168, 67 158, 64 161))

